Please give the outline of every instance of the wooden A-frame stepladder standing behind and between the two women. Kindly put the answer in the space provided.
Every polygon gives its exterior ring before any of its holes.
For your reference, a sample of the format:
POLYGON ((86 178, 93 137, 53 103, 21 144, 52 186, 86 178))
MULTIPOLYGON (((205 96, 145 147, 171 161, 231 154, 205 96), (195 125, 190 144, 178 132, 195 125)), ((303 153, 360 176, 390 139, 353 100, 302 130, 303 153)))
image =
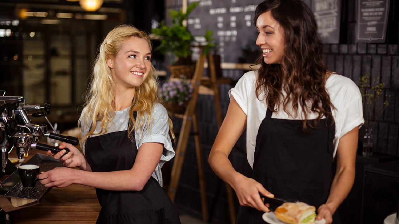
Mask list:
MULTIPOLYGON (((219 86, 220 83, 229 83, 229 79, 217 79, 216 78, 216 69, 215 69, 215 61, 213 55, 203 55, 202 49, 199 50, 199 59, 196 63, 196 69, 194 71, 194 76, 191 80, 193 85, 193 94, 192 98, 189 101, 186 111, 184 114, 174 114, 174 116, 178 118, 182 118, 182 127, 180 128, 180 136, 178 139, 178 144, 176 146, 176 156, 174 158, 174 163, 172 166, 172 173, 170 177, 170 185, 168 188, 168 195, 172 202, 174 202, 177 187, 180 179, 180 174, 182 172, 182 166, 184 161, 184 155, 187 149, 188 138, 190 136, 191 125, 193 125, 194 130, 194 140, 196 146, 196 156, 197 156, 197 165, 198 165, 198 178, 199 178, 199 190, 201 194, 201 208, 202 208, 202 220, 204 222, 208 221, 208 212, 207 212, 207 201, 206 201, 206 191, 205 191, 205 181, 203 176, 203 159, 201 153, 201 145, 199 142, 199 134, 198 134, 198 120, 196 116, 196 104, 198 99, 198 94, 211 94, 215 98, 215 112, 216 112, 216 120, 218 129, 220 129, 221 124, 223 122, 221 109, 220 109, 220 101, 219 101, 219 86), (202 77, 205 59, 208 58, 208 67, 209 67, 209 77, 202 77)), ((226 183, 227 190, 227 201, 229 204, 229 214, 231 224, 235 223, 235 208, 233 201, 233 192, 231 187, 226 183)))

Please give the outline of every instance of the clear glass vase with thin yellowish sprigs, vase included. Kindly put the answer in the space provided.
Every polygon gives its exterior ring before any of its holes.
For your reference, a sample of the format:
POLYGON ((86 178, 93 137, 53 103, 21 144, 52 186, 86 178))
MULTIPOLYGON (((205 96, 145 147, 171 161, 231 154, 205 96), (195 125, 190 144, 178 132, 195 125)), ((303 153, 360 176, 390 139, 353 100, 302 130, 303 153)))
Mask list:
POLYGON ((385 108, 388 106, 386 98, 389 96, 385 95, 385 100, 380 99, 380 97, 383 96, 384 83, 380 83, 378 77, 370 80, 369 74, 364 73, 364 75, 359 78, 358 84, 362 97, 365 126, 362 155, 367 157, 373 154, 372 131, 378 118, 381 117, 385 108))

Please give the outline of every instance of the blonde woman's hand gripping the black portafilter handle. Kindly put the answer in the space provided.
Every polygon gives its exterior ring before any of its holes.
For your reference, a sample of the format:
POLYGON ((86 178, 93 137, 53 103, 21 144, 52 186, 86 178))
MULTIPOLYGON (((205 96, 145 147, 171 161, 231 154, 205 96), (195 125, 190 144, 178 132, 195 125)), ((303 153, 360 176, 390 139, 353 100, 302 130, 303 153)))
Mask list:
POLYGON ((68 148, 69 153, 65 154, 65 150, 61 150, 57 154, 53 154, 51 151, 47 151, 47 155, 54 155, 54 159, 59 159, 64 167, 79 167, 79 169, 91 171, 89 164, 86 161, 86 157, 77 149, 75 146, 68 143, 61 143, 59 149, 68 148))

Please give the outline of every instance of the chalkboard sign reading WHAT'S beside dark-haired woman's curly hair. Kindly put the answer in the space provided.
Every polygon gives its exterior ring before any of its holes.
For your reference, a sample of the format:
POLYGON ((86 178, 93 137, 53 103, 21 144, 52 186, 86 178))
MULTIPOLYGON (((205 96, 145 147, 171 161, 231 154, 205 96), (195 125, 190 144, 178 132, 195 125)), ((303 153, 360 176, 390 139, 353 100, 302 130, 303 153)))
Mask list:
POLYGON ((339 43, 341 0, 312 0, 310 4, 322 41, 339 43))

